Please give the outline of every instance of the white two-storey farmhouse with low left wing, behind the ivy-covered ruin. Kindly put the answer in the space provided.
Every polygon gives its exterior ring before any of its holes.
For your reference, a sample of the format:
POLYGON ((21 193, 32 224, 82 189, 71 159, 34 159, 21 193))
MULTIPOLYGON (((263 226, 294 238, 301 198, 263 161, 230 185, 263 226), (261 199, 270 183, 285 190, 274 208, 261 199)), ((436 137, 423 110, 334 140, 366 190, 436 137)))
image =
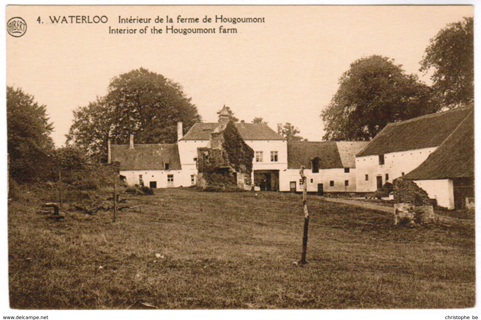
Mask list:
MULTIPOLYGON (((218 123, 196 123, 183 135, 177 123, 175 144, 112 145, 109 162, 120 162, 120 174, 127 184, 143 183, 154 188, 197 184, 198 148, 211 148, 212 134, 221 132, 230 120, 227 108, 221 110, 218 123)), ((287 167, 287 140, 267 124, 235 123, 245 143, 254 150, 251 181, 254 173, 264 177, 266 190, 279 190, 279 171, 287 167)))

